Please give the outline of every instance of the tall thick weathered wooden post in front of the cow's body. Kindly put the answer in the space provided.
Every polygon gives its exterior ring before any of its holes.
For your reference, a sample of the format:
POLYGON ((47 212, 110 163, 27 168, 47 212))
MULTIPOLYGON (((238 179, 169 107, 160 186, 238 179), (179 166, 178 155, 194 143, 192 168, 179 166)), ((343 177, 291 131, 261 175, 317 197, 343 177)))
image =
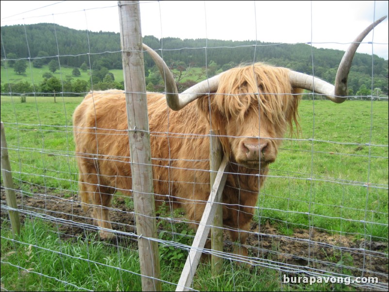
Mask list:
POLYGON ((120 39, 129 125, 132 195, 143 291, 161 291, 150 133, 139 1, 119 1, 120 39))

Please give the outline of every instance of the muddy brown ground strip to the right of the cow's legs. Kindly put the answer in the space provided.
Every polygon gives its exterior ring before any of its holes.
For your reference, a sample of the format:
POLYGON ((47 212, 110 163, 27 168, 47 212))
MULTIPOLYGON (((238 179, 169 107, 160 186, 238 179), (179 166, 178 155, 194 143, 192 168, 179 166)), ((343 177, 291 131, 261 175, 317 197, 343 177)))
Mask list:
MULTIPOLYGON (((258 250, 261 259, 276 260, 296 266, 310 274, 378 277, 388 283, 388 243, 357 240, 352 236, 331 235, 315 228, 295 229, 290 236, 282 236, 269 224, 258 226, 260 240, 249 238, 251 250, 258 250)), ((295 276, 295 275, 291 275, 295 276)), ((386 287, 388 287, 386 285, 386 287)))

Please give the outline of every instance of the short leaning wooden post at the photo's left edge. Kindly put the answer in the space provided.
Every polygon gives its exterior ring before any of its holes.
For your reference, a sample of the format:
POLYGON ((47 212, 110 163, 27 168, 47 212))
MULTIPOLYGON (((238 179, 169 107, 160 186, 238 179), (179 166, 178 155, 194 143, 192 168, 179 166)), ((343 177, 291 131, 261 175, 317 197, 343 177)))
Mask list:
MULTIPOLYGON (((8 158, 7 141, 5 140, 4 125, 1 122, 1 174, 3 175, 5 196, 7 198, 8 208, 17 209, 16 195, 14 191, 14 182, 12 181, 11 164, 8 158)), ((15 234, 20 233, 20 218, 19 212, 14 210, 8 210, 8 214, 11 221, 12 232, 15 234)))

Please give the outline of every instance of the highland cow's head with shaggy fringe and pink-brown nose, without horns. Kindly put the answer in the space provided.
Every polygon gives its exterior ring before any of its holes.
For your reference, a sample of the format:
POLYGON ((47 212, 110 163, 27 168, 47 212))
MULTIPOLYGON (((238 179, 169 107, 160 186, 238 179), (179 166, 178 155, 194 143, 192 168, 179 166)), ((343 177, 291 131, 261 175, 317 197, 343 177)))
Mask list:
POLYGON ((288 125, 297 122, 299 97, 292 95, 286 70, 268 66, 254 70, 253 66, 229 70, 216 95, 202 97, 198 105, 210 117, 211 128, 220 130, 230 159, 262 168, 275 162, 288 125))

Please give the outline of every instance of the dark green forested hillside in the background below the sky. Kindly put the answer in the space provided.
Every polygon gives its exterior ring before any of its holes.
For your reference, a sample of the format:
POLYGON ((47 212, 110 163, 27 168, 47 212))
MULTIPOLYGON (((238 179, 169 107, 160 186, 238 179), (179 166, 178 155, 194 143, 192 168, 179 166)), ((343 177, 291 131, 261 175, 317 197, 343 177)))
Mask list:
MULTIPOLYGON (((253 61, 284 66, 307 74, 313 72, 315 76, 333 82, 343 55, 340 50, 316 49, 306 44, 178 38, 160 40, 154 36, 145 36, 143 41, 153 49, 162 48, 163 59, 174 69, 177 81, 189 83, 253 61), (189 74, 189 70, 193 72, 189 74)), ((49 23, 1 27, 2 70, 6 65, 9 69, 14 67, 16 74, 23 75, 25 69, 23 71, 22 63, 27 63, 28 58, 31 58, 34 68, 46 69, 48 66, 52 71, 49 64, 54 60, 51 65, 58 63, 62 67, 75 68, 74 70, 88 70, 95 78, 92 78, 93 83, 97 84, 104 82, 110 70, 122 68, 120 35, 113 32, 78 31, 49 23), (17 61, 19 59, 22 61, 17 61), (21 68, 18 69, 18 66, 21 68)), ((162 79, 153 74, 156 71, 154 63, 146 54, 145 67, 146 84, 149 89, 158 90, 162 86, 162 79)), ((75 72, 73 79, 77 79, 77 71, 75 72)), ((368 54, 357 54, 354 58, 349 78, 350 95, 370 95, 372 72, 373 88, 376 88, 377 92, 379 90, 379 95, 388 95, 388 60, 378 56, 372 58, 368 54)), ((55 78, 47 75, 48 80, 52 77, 55 78)), ((113 75, 106 82, 113 81, 112 79, 113 75)), ((2 92, 10 92, 10 83, 13 83, 12 80, 4 80, 2 74, 2 92), (7 88, 3 90, 6 85, 7 88)), ((88 87, 88 84, 85 86, 88 87)), ((84 89, 89 88, 82 87, 82 90, 84 89)), ((74 88, 69 90, 75 92, 74 88)))

